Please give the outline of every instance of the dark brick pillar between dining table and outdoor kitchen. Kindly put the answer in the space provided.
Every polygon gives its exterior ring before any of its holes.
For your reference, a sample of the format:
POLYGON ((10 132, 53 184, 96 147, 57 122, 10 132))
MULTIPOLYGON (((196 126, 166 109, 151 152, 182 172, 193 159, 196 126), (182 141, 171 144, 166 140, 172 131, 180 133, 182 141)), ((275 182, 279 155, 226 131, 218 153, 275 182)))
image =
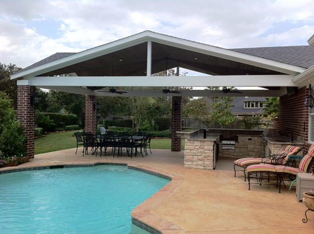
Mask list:
POLYGON ((172 97, 171 151, 181 151, 182 140, 176 132, 182 131, 182 96, 172 97))

